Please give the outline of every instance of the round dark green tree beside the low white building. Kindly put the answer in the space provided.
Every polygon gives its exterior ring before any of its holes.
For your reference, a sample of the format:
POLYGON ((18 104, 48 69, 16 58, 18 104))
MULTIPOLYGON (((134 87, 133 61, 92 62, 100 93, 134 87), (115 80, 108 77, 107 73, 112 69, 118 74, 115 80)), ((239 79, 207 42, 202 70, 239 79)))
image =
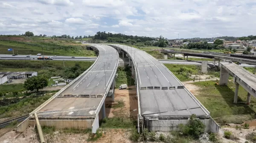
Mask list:
POLYGON ((32 76, 24 82, 24 88, 26 90, 39 90, 43 89, 44 87, 47 87, 48 85, 48 79, 44 76, 32 76))

